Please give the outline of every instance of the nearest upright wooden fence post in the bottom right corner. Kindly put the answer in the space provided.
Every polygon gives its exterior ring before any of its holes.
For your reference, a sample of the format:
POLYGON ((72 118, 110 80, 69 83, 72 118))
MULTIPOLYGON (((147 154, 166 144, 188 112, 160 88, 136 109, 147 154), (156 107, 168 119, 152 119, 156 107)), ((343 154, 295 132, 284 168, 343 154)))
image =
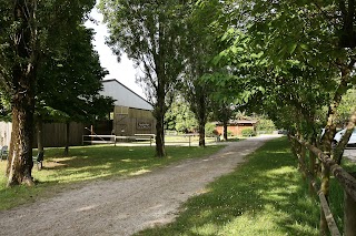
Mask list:
MULTIPOLYGON (((352 173, 356 177, 356 173, 352 173)), ((356 202, 344 191, 344 235, 356 236, 356 202)))

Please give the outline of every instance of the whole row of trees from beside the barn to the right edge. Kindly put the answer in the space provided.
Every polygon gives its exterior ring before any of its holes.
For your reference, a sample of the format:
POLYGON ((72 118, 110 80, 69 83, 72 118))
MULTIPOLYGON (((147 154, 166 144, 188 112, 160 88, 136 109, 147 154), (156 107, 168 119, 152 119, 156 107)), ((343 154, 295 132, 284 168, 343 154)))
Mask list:
MULTIPOLYGON (((156 88, 150 99, 159 120, 158 156, 165 155, 161 121, 174 88, 198 120, 201 146, 208 111, 219 106, 217 113, 227 114, 224 107, 233 103, 268 114, 277 126, 342 162, 356 122, 355 103, 340 106, 356 84, 355 0, 101 2, 113 51, 128 53, 144 68, 148 80, 142 81, 156 88), (164 81, 169 90, 159 92, 164 81), (345 115, 350 119, 344 140, 332 148, 345 115)), ((323 165, 322 178, 328 176, 323 165)), ((328 196, 328 182, 320 191, 328 196)))

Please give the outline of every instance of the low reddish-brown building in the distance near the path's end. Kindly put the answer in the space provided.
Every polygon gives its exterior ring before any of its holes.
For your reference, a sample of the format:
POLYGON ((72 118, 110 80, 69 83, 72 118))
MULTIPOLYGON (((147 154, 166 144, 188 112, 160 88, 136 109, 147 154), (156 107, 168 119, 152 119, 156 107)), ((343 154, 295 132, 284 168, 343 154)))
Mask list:
MULTIPOLYGON (((227 125, 227 132, 231 133, 234 136, 240 136, 243 130, 253 129, 256 131, 257 121, 255 120, 230 120, 227 125)), ((218 134, 224 133, 224 126, 221 123, 216 124, 216 131, 218 134)))

